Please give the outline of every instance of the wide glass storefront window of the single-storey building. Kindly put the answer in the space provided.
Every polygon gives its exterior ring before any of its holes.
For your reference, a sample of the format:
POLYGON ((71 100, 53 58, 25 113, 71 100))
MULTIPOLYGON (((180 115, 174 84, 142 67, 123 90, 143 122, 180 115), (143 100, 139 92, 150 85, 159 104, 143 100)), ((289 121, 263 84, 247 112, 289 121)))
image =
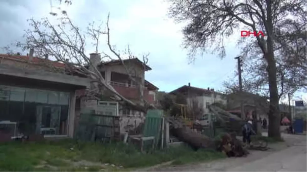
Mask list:
POLYGON ((66 135, 68 104, 67 92, 0 85, 0 121, 16 122, 17 134, 66 135))

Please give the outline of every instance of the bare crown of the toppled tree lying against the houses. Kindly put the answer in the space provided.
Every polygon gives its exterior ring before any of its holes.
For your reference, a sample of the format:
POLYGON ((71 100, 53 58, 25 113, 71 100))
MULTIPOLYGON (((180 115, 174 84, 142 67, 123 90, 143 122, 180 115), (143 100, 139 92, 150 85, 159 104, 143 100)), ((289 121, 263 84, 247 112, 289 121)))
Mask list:
MULTIPOLYGON (((31 29, 25 31, 25 42, 18 42, 16 44, 17 47, 21 47, 23 50, 33 48, 38 57, 44 57, 45 54, 48 54, 50 58, 56 59, 56 62, 64 63, 66 72, 68 71, 70 74, 73 73, 82 77, 91 78, 95 86, 87 90, 87 95, 97 97, 105 92, 109 92, 116 101, 124 102, 123 104, 128 104, 134 110, 146 112, 148 104, 143 96, 140 97, 143 103, 135 103, 119 94, 102 76, 100 69, 97 67, 100 61, 98 64, 97 62, 92 62, 86 53, 86 43, 91 40, 95 47, 95 53, 102 54, 101 61, 119 60, 126 69, 129 78, 138 85, 140 92, 143 92, 144 83, 136 80, 130 70, 129 64, 124 63, 125 59, 136 57, 131 53, 129 47, 127 50, 128 53, 120 54, 111 45, 109 15, 106 22, 106 31, 101 30, 101 24, 96 26, 95 23, 90 23, 87 30, 83 32, 66 13, 57 18, 56 22, 51 22, 48 18, 43 18, 41 21, 34 19, 28 21, 31 29), (107 48, 111 54, 103 51, 99 52, 99 40, 101 36, 107 37, 107 48)), ((148 61, 148 55, 144 55, 143 61, 145 63, 148 61)))

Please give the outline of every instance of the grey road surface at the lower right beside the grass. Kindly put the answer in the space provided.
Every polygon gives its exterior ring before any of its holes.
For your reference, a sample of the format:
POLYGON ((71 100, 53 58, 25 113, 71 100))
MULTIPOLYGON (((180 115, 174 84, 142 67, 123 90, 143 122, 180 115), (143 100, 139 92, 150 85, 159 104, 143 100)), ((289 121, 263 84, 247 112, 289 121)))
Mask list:
MULTIPOLYGON (((265 135, 265 134, 264 134, 265 135)), ((160 172, 306 172, 307 136, 282 134, 284 143, 271 144, 270 151, 251 151, 245 158, 210 163, 169 166, 142 171, 160 172)))

